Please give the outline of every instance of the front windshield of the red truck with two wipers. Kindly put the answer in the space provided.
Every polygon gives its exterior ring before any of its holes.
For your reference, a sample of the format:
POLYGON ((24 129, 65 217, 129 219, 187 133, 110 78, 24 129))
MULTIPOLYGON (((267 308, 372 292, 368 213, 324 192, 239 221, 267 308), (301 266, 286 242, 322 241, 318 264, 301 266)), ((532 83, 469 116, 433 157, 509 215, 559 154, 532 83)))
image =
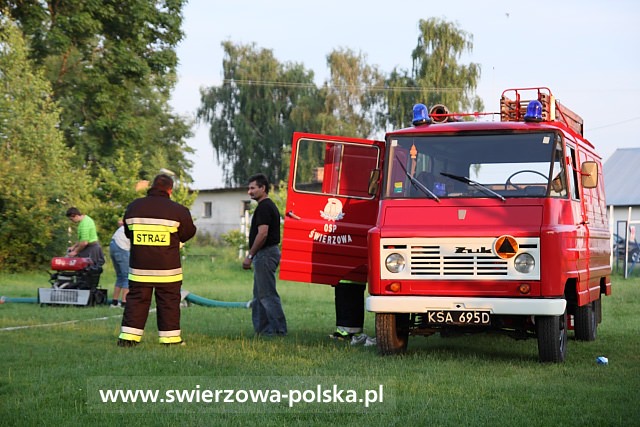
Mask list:
POLYGON ((551 132, 393 136, 385 197, 566 197, 560 136, 551 132))

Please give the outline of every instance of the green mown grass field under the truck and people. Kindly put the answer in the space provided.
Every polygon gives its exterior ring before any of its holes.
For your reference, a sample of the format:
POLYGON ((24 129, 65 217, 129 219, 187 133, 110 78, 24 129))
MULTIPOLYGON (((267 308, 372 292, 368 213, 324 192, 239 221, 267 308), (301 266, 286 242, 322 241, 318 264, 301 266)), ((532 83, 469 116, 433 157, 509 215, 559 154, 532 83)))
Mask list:
MULTIPOLYGON (((221 250, 194 248, 183 288, 222 301, 251 297, 251 272, 221 250), (215 254, 213 257, 211 254, 215 254), (198 256, 195 256, 198 255, 198 256)), ((112 291, 110 266, 101 284, 112 291)), ((34 297, 45 272, 0 274, 0 295, 34 297)), ((536 341, 502 335, 412 337, 401 357, 327 338, 330 287, 279 282, 290 334, 253 337, 250 311, 182 311, 186 347, 157 343, 155 314, 143 343, 115 345, 121 311, 108 307, 0 305, 1 425, 637 425, 640 422, 640 279, 613 280, 595 342, 569 342, 563 364, 537 362, 536 341), (75 323, 62 323, 75 321, 75 323), (55 325, 55 323, 59 323, 55 325), (39 326, 48 325, 48 326, 39 326), (30 328, 2 330, 9 327, 30 328), (607 356, 608 366, 595 363, 607 356), (256 389, 382 384, 385 401, 358 405, 101 405, 97 389, 256 389), (227 412, 225 412, 227 411, 227 412), (258 413, 260 412, 260 413, 258 413), (261 413, 264 412, 264 413, 261 413)), ((373 315, 366 316, 373 335, 373 315)), ((284 388, 283 388, 284 389, 284 388)))

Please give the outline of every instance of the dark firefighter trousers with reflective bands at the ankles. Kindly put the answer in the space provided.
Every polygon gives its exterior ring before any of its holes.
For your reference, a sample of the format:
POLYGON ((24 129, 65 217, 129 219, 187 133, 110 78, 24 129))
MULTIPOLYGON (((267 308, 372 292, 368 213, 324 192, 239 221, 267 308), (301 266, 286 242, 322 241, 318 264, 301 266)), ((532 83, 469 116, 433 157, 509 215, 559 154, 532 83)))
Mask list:
POLYGON ((155 289, 160 343, 182 342, 180 336, 181 286, 182 282, 156 284, 129 281, 129 294, 122 316, 120 339, 140 342, 155 289))

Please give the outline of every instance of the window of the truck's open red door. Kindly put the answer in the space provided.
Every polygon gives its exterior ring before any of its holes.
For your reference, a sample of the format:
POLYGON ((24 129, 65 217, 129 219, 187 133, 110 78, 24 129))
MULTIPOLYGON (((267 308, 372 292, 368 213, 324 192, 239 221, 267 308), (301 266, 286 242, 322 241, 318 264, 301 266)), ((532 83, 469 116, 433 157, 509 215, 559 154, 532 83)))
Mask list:
POLYGON ((376 146, 301 139, 294 189, 298 192, 370 199, 369 178, 377 168, 376 146))

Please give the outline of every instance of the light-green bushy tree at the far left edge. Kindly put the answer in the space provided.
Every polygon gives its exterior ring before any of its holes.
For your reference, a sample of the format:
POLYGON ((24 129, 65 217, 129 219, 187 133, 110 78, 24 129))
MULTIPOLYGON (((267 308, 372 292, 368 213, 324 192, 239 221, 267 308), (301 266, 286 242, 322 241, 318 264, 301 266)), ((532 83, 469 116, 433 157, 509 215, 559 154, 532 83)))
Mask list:
POLYGON ((71 203, 93 206, 71 166, 49 82, 33 70, 17 25, 0 15, 0 269, 33 269, 64 253, 71 203))

